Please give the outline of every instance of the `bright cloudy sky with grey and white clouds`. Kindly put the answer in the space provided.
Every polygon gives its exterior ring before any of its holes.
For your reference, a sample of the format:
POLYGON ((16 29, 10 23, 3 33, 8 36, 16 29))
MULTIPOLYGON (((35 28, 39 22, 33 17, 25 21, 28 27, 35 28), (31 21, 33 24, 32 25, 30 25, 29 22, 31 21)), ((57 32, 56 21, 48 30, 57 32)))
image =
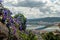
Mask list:
POLYGON ((60 0, 4 0, 3 5, 28 19, 60 17, 60 0))

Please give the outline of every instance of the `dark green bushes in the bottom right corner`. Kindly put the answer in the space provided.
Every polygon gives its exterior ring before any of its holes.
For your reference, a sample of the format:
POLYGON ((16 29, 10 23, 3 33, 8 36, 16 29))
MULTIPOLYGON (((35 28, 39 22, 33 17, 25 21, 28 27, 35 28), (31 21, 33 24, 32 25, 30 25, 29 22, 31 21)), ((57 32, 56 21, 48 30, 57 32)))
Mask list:
POLYGON ((54 35, 52 32, 42 34, 44 40, 60 40, 60 36, 54 35))

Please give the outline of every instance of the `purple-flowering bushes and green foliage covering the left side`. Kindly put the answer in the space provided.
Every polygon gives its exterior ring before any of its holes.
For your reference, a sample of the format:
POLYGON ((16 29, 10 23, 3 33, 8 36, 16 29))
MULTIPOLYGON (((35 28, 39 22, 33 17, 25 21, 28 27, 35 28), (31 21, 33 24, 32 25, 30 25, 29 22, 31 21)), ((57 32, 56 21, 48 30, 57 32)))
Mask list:
MULTIPOLYGON (((24 15, 20 13, 16 14, 15 16, 11 15, 12 12, 2 6, 0 9, 0 22, 1 24, 6 25, 5 27, 8 28, 7 40, 37 40, 35 34, 26 31, 26 18, 24 15)), ((3 40, 3 38, 1 40, 3 40)))

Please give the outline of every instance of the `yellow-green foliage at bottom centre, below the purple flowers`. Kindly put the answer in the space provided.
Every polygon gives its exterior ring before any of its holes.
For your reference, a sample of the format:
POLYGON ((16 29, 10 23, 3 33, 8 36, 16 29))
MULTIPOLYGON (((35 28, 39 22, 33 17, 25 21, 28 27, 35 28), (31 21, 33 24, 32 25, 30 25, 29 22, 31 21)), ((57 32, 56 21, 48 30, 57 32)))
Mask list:
POLYGON ((19 37, 22 40, 38 40, 37 36, 33 34, 32 32, 29 32, 29 34, 26 34, 18 30, 17 33, 19 34, 19 37))

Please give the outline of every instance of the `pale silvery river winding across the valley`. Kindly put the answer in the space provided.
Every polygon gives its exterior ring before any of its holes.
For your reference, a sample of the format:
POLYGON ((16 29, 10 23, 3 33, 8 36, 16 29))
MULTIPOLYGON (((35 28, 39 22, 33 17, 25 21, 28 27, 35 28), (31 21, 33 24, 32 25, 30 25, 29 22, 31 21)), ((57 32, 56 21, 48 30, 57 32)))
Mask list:
POLYGON ((48 28, 45 28, 45 25, 27 25, 27 30, 46 30, 46 31, 54 31, 54 30, 60 30, 58 26, 51 26, 48 28))

